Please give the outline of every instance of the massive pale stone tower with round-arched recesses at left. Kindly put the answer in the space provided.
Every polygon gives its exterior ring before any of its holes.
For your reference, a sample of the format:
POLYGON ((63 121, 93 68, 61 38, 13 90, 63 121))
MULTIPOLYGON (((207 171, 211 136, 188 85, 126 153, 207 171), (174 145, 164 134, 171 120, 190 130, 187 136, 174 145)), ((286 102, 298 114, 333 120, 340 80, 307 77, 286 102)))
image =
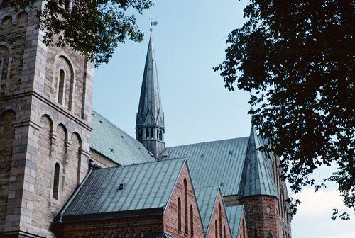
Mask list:
POLYGON ((0 0, 0 237, 54 237, 50 222, 88 170, 93 66, 41 42, 43 1, 21 13, 9 2, 0 0))

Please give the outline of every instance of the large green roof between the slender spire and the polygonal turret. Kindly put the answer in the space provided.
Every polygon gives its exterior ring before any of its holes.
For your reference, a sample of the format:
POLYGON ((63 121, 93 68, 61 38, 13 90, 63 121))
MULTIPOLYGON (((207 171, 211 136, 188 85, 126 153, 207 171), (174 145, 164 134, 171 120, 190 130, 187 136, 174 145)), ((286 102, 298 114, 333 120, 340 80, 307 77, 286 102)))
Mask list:
POLYGON ((249 137, 168 147, 160 160, 186 158, 195 188, 221 186, 224 196, 238 193, 249 137))

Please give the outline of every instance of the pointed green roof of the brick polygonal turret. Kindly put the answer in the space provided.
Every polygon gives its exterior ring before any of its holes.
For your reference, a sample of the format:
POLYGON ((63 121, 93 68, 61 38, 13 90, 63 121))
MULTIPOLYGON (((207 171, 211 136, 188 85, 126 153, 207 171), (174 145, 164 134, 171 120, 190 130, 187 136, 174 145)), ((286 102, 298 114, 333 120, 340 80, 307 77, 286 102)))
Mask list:
POLYGON ((257 195, 277 196, 269 166, 262 152, 256 149, 258 147, 260 147, 260 142, 252 126, 238 193, 239 198, 257 195))

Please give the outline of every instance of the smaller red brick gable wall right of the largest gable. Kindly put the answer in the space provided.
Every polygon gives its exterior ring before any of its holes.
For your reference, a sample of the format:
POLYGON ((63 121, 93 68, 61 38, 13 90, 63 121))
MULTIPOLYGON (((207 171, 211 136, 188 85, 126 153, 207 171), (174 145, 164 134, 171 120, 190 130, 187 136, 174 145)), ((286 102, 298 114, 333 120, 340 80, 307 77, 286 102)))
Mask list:
POLYGON ((229 223, 226 217, 226 210, 224 209, 221 193, 218 193, 216 204, 214 204, 213 213, 209 227, 205 227, 207 230, 207 238, 230 238, 231 232, 229 229, 229 223), (219 219, 219 205, 221 206, 221 219, 219 219), (217 224, 217 227, 216 227, 217 224), (226 234, 224 235, 224 230, 226 234))

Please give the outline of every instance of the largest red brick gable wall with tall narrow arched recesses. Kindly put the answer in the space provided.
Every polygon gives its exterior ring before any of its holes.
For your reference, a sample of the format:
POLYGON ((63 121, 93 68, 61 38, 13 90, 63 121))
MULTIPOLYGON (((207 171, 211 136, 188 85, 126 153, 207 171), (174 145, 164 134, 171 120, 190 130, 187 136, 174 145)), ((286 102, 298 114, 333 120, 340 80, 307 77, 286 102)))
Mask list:
POLYGON ((164 231, 169 232, 173 237, 191 237, 191 212, 193 213, 193 237, 204 237, 202 228, 202 221, 200 219, 195 193, 192 190, 192 183, 190 179, 187 166, 182 168, 180 177, 173 190, 170 201, 164 213, 164 231), (187 181, 187 234, 185 234, 185 189, 184 179, 187 181), (178 198, 181 200, 181 232, 178 230, 178 198))

